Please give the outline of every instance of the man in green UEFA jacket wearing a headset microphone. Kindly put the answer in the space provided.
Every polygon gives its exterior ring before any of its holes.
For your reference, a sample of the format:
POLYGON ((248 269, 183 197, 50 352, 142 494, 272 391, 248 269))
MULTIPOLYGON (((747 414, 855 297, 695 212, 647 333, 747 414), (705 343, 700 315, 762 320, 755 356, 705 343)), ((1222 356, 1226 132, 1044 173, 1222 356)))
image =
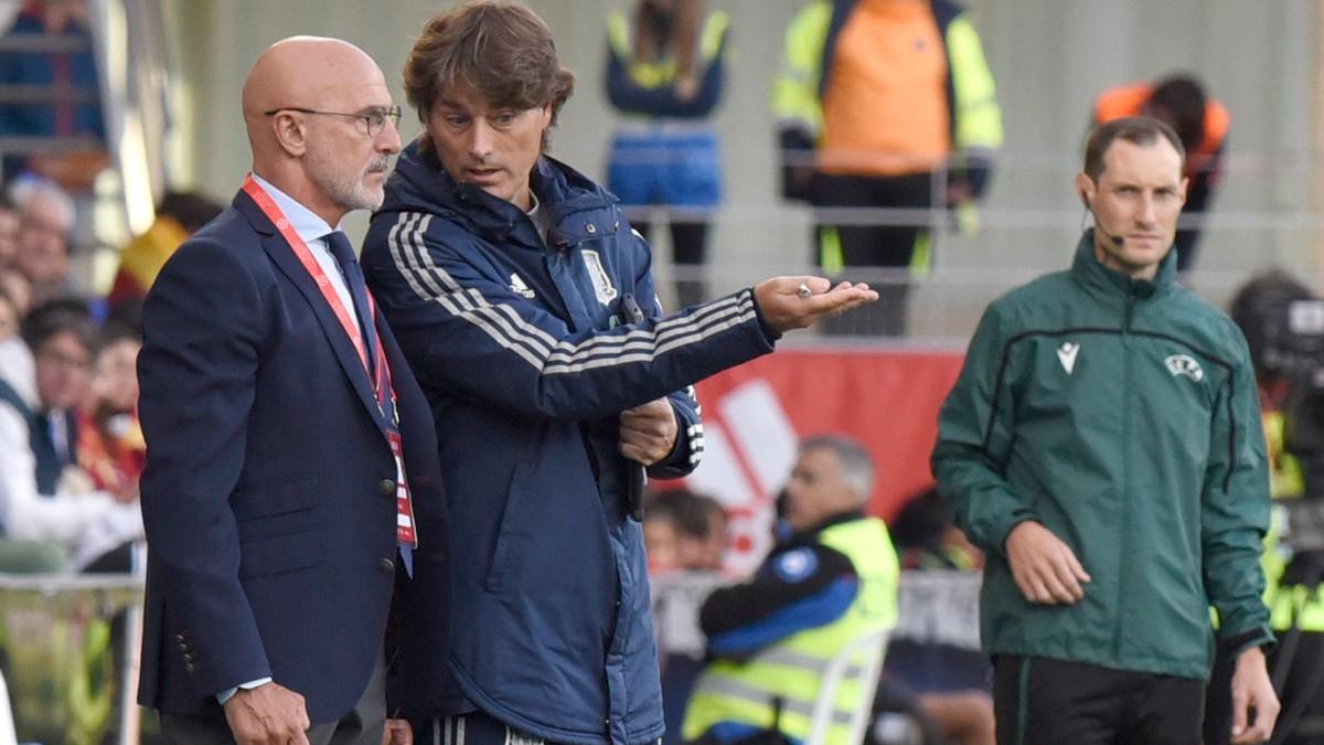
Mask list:
POLYGON ((1005 742, 1198 742, 1218 611, 1234 742, 1268 738, 1264 437, 1246 339, 1174 281, 1172 127, 1096 127, 1070 272, 985 312, 933 473, 985 551, 982 643, 1005 742))

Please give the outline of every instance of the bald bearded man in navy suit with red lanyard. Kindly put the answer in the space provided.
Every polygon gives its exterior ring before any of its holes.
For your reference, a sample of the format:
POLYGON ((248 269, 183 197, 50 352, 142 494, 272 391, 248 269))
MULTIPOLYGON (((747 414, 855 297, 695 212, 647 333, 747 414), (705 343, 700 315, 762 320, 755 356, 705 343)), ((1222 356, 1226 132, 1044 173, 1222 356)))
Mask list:
POLYGON ((139 700, 176 742, 377 745, 393 590, 446 574, 432 416, 339 229, 381 203, 400 109, 312 37, 242 98, 253 172, 144 308, 139 700))

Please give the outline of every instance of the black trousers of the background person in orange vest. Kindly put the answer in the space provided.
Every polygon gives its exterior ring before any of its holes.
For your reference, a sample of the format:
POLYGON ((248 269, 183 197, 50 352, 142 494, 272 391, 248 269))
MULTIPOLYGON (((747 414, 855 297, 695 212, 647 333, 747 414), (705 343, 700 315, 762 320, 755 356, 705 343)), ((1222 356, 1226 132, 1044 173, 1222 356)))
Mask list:
MULTIPOLYGON (((933 175, 851 176, 814 174, 810 186, 814 207, 898 207, 928 209, 933 207, 933 175)), ((915 256, 915 244, 928 223, 919 224, 833 224, 820 220, 816 229, 814 264, 820 264, 824 232, 833 229, 841 241, 845 272, 841 277, 869 281, 878 290, 878 302, 839 318, 825 318, 821 327, 829 335, 873 334, 900 337, 906 334, 906 298, 910 278, 906 270, 915 256), (888 281, 879 282, 869 273, 851 269, 895 269, 888 281)))

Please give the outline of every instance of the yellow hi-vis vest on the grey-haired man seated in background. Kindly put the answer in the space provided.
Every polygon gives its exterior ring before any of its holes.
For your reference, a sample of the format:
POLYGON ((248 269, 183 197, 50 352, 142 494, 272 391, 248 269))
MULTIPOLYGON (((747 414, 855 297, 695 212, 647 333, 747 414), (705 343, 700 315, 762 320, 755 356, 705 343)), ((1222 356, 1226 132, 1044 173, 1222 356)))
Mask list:
MULTIPOLYGON (((733 722, 776 728, 804 742, 828 665, 851 640, 896 624, 900 570, 883 521, 866 517, 833 525, 818 534, 818 542, 846 554, 855 567, 859 587, 850 607, 837 620, 788 636, 745 663, 710 664, 690 696, 681 730, 685 740, 696 740, 719 722, 733 722)), ((847 672, 837 689, 826 744, 814 745, 847 745, 849 721, 861 696, 854 677, 847 672)))

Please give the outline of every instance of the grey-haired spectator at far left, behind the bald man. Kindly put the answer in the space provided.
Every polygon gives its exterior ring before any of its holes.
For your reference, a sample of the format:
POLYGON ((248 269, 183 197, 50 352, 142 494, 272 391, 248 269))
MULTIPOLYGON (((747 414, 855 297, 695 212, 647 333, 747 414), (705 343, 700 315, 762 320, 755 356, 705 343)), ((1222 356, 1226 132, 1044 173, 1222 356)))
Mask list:
POLYGON ((32 282, 33 304, 40 305, 68 288, 74 203, 60 186, 38 178, 19 179, 9 195, 19 208, 15 266, 32 282))

